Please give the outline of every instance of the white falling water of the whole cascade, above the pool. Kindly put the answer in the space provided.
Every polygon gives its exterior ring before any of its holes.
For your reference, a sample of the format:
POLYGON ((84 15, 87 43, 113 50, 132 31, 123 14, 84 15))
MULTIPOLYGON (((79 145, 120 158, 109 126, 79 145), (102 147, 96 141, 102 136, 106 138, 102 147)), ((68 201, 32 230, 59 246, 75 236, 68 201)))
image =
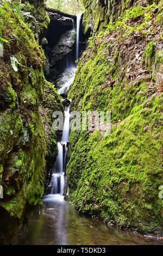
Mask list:
MULTIPOLYGON (((76 46, 76 58, 79 58, 79 39, 80 39, 80 23, 82 16, 77 15, 77 46, 76 46)), ((74 29, 73 23, 73 29, 74 29)), ((58 82, 60 88, 58 90, 59 94, 67 93, 71 83, 74 80, 76 68, 74 66, 68 67, 62 74, 60 81, 58 82)), ((48 200, 64 200, 64 187, 65 187, 65 169, 66 169, 66 156, 67 156, 67 142, 69 142, 70 137, 70 106, 65 108, 65 121, 62 131, 61 141, 58 142, 58 155, 54 163, 53 174, 52 174, 52 190, 51 194, 48 194, 43 198, 43 201, 48 200)))

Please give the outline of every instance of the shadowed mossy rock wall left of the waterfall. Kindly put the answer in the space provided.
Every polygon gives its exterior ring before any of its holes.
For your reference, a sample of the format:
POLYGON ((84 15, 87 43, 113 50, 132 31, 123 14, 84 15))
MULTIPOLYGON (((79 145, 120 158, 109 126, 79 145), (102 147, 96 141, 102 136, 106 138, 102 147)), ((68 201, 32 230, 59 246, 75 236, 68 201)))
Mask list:
MULTIPOLYGON (((20 8, 20 1, 2 1, 0 6, 0 184, 4 188, 0 215, 5 212, 15 218, 16 232, 26 207, 40 203, 48 160, 57 154, 52 112, 63 108, 54 86, 43 76, 44 52, 20 8)), ((9 225, 7 221, 1 229, 1 243, 5 231, 14 235, 9 225)))

